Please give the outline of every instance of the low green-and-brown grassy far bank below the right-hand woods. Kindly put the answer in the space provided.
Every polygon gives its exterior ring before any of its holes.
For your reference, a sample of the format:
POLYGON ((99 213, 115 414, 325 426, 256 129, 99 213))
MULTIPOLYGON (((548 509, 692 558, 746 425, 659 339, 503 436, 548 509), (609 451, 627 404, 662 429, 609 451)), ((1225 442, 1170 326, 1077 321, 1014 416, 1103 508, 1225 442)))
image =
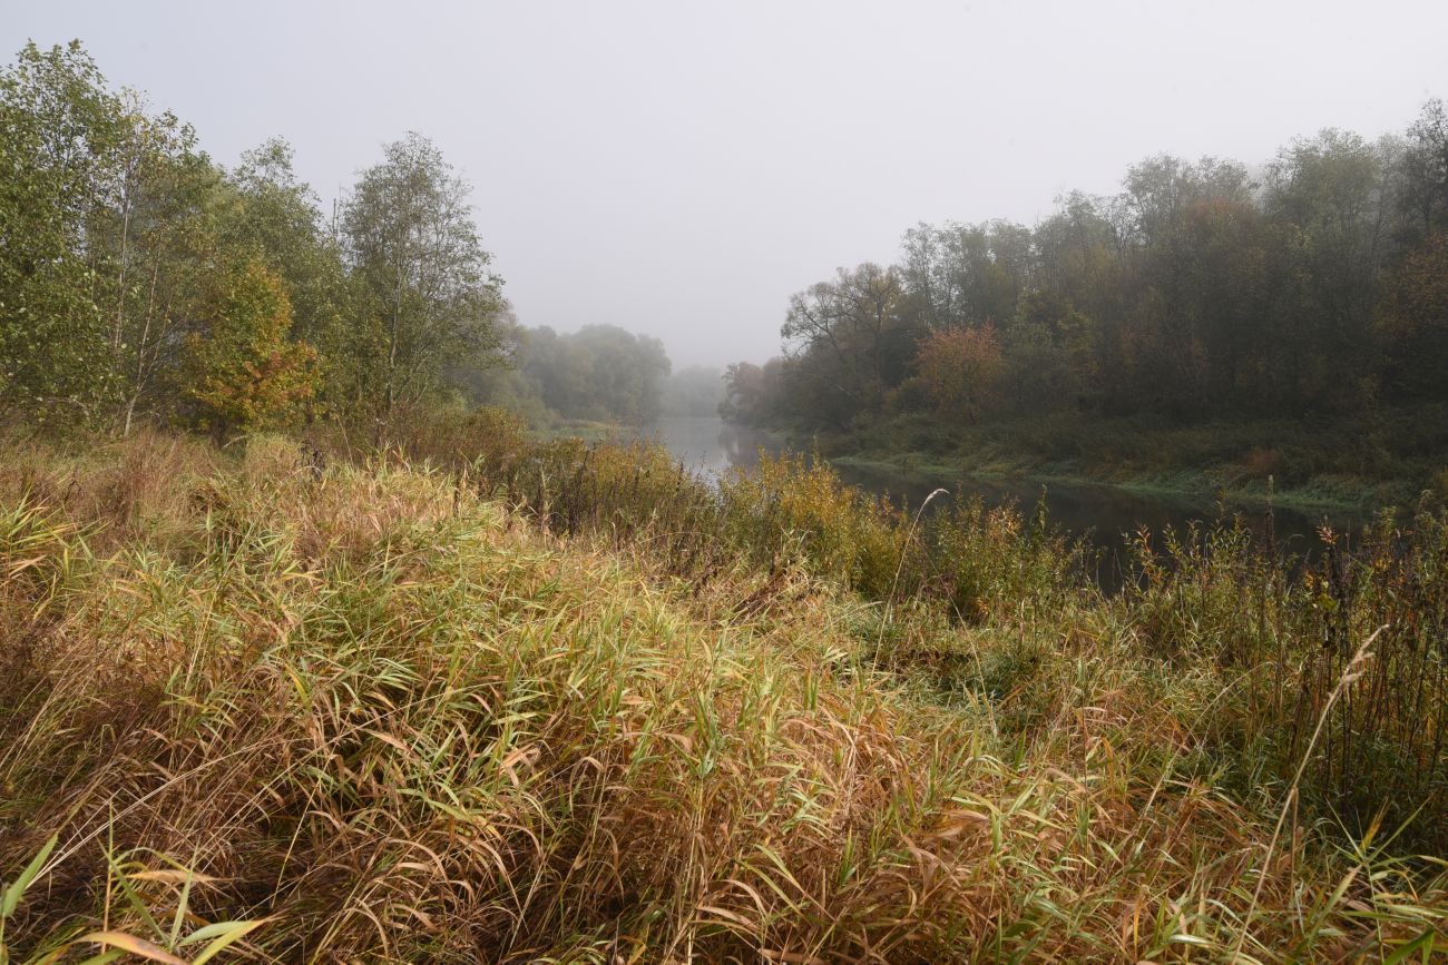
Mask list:
POLYGON ((1111 486, 1202 505, 1363 516, 1448 486, 1448 409, 1339 421, 1173 425, 1080 414, 944 425, 902 415, 849 434, 794 438, 840 466, 933 479, 1111 486))

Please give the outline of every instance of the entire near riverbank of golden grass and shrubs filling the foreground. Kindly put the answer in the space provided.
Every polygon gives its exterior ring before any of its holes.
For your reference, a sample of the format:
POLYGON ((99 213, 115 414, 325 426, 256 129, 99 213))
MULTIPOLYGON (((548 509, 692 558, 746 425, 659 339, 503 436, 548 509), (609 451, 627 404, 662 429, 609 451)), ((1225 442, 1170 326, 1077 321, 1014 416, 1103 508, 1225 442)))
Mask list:
POLYGON ((1448 940, 1435 516, 1303 580, 1222 531, 1108 599, 1040 522, 789 460, 712 488, 498 414, 321 449, 4 453, 0 878, 42 859, 0 956, 1448 940))

